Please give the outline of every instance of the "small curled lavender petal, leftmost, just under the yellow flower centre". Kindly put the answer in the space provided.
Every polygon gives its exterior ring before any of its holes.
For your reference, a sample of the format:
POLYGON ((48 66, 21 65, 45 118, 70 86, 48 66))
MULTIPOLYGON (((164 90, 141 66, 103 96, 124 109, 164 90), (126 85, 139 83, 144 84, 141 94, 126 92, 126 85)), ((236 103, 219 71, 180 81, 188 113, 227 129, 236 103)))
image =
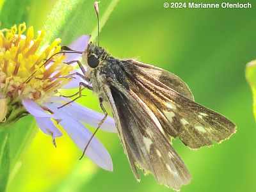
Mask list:
POLYGON ((27 109, 27 111, 33 116, 56 118, 56 116, 46 113, 44 109, 40 108, 40 106, 38 106, 31 99, 22 99, 22 104, 27 109))

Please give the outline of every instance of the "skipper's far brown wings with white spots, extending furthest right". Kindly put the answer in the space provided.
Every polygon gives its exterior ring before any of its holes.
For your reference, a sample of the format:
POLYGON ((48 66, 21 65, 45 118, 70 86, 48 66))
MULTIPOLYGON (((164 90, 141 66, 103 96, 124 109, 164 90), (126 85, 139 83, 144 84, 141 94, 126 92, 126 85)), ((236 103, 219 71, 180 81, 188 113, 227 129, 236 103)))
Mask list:
MULTIPOLYGON (((148 100, 150 97, 149 108, 155 111, 158 118, 166 118, 165 122, 169 124, 162 125, 170 136, 178 136, 190 148, 200 148, 212 145, 214 141, 223 141, 236 132, 236 125, 225 116, 194 102, 189 88, 183 81, 180 80, 182 88, 172 87, 173 74, 169 73, 168 76, 168 72, 163 70, 162 77, 161 68, 150 68, 150 65, 143 67, 143 63, 133 60, 130 62, 136 68, 134 72, 139 87, 137 90, 143 90, 140 91, 141 98, 148 100), (157 70, 158 75, 154 75, 152 70, 157 70)), ((179 79, 176 78, 175 81, 179 79)))

